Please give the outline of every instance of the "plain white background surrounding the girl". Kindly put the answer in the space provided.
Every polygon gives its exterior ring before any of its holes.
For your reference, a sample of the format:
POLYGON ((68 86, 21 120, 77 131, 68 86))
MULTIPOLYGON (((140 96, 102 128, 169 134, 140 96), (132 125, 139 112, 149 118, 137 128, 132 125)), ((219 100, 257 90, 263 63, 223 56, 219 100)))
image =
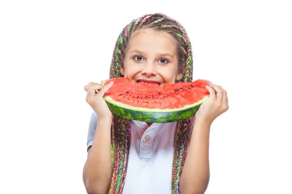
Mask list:
POLYGON ((283 0, 0 2, 0 193, 85 194, 91 107, 134 18, 162 12, 192 43, 194 80, 227 90, 206 194, 292 194, 292 6, 283 0))

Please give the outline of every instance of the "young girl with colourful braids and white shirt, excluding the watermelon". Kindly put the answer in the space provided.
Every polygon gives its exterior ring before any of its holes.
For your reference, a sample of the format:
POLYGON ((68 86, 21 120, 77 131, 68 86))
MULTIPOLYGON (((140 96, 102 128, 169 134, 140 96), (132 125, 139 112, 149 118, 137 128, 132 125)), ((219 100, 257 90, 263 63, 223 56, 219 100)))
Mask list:
MULTIPOLYGON (((171 84, 192 81, 192 50, 183 26, 164 14, 134 19, 121 32, 110 78, 171 84)), ((84 87, 93 109, 83 180, 90 194, 203 194, 209 182, 209 133, 228 110, 226 91, 206 86, 210 97, 195 116, 145 123, 113 115, 104 94, 112 83, 84 87), (196 122, 195 122, 196 120, 196 122)))

